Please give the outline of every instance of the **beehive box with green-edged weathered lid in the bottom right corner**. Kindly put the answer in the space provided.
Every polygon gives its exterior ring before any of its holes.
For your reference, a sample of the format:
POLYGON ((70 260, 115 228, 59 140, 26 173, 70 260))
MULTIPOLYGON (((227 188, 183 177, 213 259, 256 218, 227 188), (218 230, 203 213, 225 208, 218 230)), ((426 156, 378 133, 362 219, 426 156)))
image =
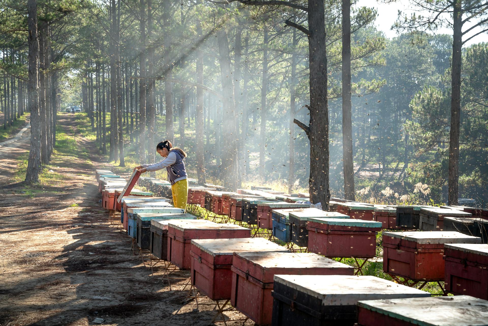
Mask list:
POLYGON ((454 297, 358 302, 359 326, 486 326, 488 301, 454 297))

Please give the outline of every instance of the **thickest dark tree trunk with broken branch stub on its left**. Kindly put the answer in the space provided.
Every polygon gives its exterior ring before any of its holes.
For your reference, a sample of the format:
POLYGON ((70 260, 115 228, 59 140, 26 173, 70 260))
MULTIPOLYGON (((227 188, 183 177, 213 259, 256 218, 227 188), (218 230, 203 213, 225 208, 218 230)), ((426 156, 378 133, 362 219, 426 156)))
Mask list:
POLYGON ((329 192, 329 115, 327 103, 327 50, 324 1, 308 0, 308 54, 310 122, 295 120, 310 141, 309 192, 312 203, 328 210, 329 192))

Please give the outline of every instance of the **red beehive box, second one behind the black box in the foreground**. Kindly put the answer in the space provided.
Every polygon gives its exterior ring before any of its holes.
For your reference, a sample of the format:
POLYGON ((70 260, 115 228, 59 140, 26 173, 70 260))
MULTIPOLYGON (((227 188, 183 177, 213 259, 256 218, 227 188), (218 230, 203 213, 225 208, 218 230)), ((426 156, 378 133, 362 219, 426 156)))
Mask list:
POLYGON ((191 240, 191 283, 212 300, 229 300, 234 252, 289 252, 263 238, 191 240))

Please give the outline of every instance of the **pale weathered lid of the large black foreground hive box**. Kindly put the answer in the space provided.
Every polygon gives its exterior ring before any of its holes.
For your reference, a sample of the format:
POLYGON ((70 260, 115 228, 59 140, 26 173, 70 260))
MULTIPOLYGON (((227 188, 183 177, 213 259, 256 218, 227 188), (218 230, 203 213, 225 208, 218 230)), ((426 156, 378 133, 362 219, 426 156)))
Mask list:
POLYGON ((322 301, 323 305, 356 305, 360 300, 430 297, 430 293, 375 276, 275 275, 284 284, 322 301))

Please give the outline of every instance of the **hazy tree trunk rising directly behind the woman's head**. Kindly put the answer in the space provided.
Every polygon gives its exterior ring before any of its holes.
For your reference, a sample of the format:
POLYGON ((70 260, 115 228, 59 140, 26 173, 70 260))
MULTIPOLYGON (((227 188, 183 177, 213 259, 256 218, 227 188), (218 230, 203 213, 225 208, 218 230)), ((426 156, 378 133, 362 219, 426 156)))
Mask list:
POLYGON ((169 81, 172 75, 171 67, 171 34, 169 14, 170 14, 169 0, 163 0, 163 26, 164 26, 164 65, 165 65, 165 79, 164 79, 164 100, 166 106, 166 138, 173 142, 175 134, 173 131, 173 85, 169 81))

